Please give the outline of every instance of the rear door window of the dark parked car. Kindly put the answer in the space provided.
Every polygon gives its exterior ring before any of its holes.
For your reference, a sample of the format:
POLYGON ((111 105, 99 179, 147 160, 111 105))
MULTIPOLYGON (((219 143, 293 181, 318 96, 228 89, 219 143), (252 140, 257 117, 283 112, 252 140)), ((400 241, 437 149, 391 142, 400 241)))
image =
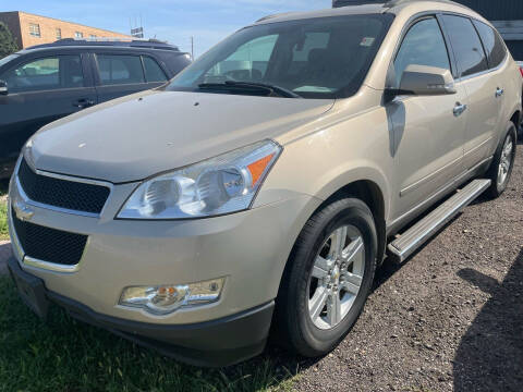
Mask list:
POLYGON ((102 85, 145 83, 139 56, 97 54, 102 85))

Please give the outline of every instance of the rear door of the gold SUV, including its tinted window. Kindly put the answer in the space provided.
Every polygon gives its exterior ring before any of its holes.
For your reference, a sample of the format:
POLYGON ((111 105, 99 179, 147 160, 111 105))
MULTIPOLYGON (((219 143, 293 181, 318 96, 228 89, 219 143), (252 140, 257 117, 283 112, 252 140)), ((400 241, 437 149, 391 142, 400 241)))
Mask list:
MULTIPOLYGON (((455 57, 457 84, 467 94, 467 126, 464 169, 487 158, 500 126, 499 112, 504 86, 498 71, 489 70, 484 46, 473 22, 465 16, 441 15, 455 57)), ((498 64, 499 65, 499 64, 498 64)))

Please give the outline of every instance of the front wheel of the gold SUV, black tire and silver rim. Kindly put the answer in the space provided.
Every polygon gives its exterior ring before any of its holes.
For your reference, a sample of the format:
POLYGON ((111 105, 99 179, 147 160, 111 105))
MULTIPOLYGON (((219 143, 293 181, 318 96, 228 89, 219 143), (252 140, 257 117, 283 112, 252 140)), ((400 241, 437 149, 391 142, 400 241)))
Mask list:
POLYGON ((356 322, 376 271, 373 213, 344 198, 317 211, 300 234, 277 298, 277 329, 293 352, 321 356, 356 322))

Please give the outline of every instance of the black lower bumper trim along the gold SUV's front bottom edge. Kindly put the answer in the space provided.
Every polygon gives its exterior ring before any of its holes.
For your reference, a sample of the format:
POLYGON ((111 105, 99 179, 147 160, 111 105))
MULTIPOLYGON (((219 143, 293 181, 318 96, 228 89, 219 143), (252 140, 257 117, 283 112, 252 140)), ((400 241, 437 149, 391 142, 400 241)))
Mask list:
POLYGON ((207 322, 174 326, 136 322, 98 314, 84 304, 47 290, 40 279, 22 270, 14 258, 8 261, 8 267, 22 297, 39 316, 45 316, 48 302, 52 302, 75 319, 191 365, 222 367, 248 359, 263 352, 269 333, 272 301, 207 322), (22 290, 22 285, 25 289, 22 290))

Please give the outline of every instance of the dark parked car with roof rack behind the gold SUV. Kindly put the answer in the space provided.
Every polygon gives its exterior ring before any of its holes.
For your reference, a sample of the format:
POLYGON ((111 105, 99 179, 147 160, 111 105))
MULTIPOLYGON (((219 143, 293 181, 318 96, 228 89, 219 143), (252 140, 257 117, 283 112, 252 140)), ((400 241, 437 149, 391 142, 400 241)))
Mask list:
POLYGON ((41 126, 93 105, 161 86, 191 63, 157 40, 62 39, 0 60, 0 179, 41 126))

